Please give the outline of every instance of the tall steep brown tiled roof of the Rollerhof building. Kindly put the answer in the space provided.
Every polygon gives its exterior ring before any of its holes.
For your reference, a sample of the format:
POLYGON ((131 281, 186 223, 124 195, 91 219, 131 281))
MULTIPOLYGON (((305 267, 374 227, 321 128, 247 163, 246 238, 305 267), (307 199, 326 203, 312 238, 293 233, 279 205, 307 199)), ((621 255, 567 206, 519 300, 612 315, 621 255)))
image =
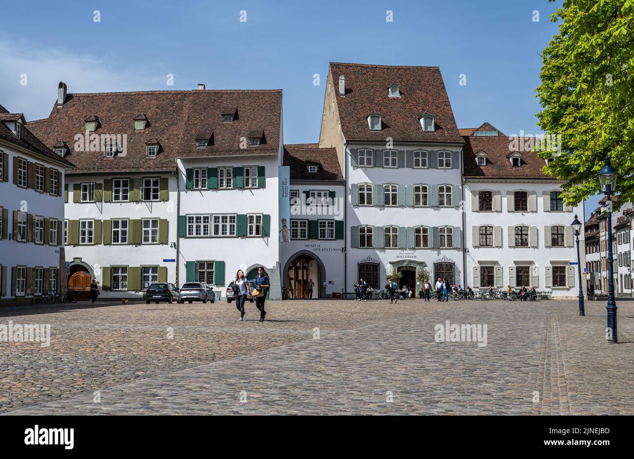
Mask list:
MULTIPOLYGON (((341 129, 348 141, 462 143, 456 120, 438 67, 400 67, 330 63, 339 108, 341 129), (339 96, 339 76, 344 75, 346 95, 339 96), (389 97, 398 84, 400 97, 389 97), (370 131, 368 115, 379 113, 381 131, 370 131), (420 117, 434 116, 436 131, 425 133, 420 117)), ((328 108, 327 108, 328 109, 328 108)))

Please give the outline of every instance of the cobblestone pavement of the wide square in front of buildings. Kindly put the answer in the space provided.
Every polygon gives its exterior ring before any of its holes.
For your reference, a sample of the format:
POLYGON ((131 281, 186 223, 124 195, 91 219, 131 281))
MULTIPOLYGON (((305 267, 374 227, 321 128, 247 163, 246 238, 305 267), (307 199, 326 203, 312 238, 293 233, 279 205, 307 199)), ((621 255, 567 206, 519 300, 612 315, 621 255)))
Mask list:
POLYGON ((634 302, 284 301, 0 309, 5 414, 634 414, 634 302), (486 346, 434 326, 486 324, 486 346), (173 330, 173 339, 168 329, 173 330), (318 328, 319 337, 315 333, 318 328), (94 403, 94 392, 100 402, 94 403))

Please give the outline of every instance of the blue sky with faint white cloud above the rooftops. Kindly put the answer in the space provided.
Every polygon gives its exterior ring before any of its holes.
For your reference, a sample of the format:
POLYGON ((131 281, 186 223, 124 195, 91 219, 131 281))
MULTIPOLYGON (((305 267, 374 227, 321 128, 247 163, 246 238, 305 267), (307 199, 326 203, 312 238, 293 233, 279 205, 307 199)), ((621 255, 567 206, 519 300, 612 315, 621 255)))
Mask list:
POLYGON ((486 120, 505 134, 538 134, 540 53, 557 31, 549 16, 560 3, 16 2, 0 24, 0 103, 27 120, 46 117, 60 80, 72 93, 192 89, 198 82, 281 88, 285 142, 305 143, 318 140, 329 61, 437 65, 458 127, 486 120), (385 20, 388 10, 393 22, 385 20), (174 86, 166 86, 167 74, 174 86))

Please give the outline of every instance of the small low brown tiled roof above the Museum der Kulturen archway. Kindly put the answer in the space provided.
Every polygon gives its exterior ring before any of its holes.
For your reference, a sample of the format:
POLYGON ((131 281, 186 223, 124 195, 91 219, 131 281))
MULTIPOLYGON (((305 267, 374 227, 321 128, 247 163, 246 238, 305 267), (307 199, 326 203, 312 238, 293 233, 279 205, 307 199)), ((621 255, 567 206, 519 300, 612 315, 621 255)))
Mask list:
POLYGON ((319 148, 318 144, 284 145, 284 165, 290 166, 291 180, 343 180, 335 148, 319 148), (308 172, 308 164, 316 164, 317 172, 308 172))

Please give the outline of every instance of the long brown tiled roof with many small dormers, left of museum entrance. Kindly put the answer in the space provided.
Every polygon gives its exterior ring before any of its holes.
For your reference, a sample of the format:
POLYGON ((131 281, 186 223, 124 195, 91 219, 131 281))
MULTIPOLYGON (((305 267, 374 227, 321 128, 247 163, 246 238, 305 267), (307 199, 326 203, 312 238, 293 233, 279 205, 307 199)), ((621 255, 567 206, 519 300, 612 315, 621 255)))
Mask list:
POLYGON ((177 157, 276 155, 280 143, 281 90, 253 91, 138 91, 127 93, 67 94, 62 107, 55 104, 47 119, 32 122, 34 132, 52 146, 65 141, 74 172, 172 171, 177 157), (226 107, 238 117, 223 122, 226 107), (146 129, 136 131, 134 119, 145 115, 146 129), (96 134, 126 134, 127 154, 104 158, 103 152, 75 152, 75 134, 84 134, 85 120, 97 117, 96 134), (249 146, 252 131, 264 133, 266 143, 249 146), (213 139, 197 148, 200 133, 213 139), (241 138, 247 148, 240 148, 241 138), (160 144, 156 157, 146 157, 146 142, 160 144), (154 141, 154 140, 153 140, 154 141))

